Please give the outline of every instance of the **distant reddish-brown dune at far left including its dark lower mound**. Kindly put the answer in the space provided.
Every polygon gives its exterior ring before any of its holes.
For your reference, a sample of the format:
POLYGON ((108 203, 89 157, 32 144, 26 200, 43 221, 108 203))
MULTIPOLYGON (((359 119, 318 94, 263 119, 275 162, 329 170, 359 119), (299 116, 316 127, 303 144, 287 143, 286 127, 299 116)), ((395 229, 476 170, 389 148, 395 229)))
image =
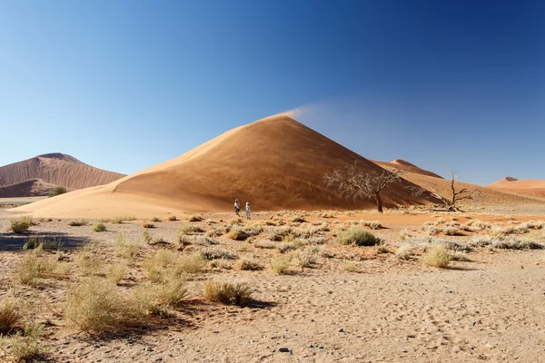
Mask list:
POLYGON ((0 197, 47 195, 56 186, 84 189, 122 177, 124 174, 94 168, 64 153, 48 153, 0 167, 0 197))

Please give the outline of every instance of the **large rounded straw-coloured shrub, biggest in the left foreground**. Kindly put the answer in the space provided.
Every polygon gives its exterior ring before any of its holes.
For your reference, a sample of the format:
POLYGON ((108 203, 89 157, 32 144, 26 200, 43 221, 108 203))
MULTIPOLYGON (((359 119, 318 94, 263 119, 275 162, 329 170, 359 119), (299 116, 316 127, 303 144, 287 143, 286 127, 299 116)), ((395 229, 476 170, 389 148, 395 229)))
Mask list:
POLYGON ((86 333, 103 333, 128 322, 131 306, 114 282, 99 278, 83 280, 66 295, 64 315, 69 325, 86 333))

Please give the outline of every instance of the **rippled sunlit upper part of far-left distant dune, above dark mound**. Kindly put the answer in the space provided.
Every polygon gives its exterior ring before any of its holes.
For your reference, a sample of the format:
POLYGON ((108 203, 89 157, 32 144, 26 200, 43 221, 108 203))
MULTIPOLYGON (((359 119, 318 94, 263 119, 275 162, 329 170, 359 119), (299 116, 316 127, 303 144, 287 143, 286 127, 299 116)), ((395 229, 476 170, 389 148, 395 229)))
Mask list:
POLYGON ((39 179, 68 189, 83 189, 122 177, 124 174, 94 168, 63 153, 39 155, 0 167, 0 187, 39 179))

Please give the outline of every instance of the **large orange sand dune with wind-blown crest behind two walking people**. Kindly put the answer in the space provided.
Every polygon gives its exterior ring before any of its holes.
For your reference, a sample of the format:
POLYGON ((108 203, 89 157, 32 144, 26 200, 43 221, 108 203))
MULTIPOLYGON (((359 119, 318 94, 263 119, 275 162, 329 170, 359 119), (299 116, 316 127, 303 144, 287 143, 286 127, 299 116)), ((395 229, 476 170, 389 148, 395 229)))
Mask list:
MULTIPOLYGON (((255 211, 362 209, 374 201, 339 198, 323 177, 337 166, 357 161, 381 172, 373 162, 294 121, 276 115, 225 132, 215 139, 101 188, 74 191, 18 209, 36 215, 112 214, 150 216, 176 211, 231 211, 235 198, 251 201, 255 211)), ((384 192, 384 205, 423 204, 405 186, 384 192)))

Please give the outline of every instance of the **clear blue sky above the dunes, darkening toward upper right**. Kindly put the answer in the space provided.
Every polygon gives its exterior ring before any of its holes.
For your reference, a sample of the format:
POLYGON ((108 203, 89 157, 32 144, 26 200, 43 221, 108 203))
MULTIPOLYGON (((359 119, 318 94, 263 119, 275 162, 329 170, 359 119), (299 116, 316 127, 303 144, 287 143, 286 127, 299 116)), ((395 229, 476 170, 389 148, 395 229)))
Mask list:
POLYGON ((0 165, 131 173, 300 118, 369 159, 545 179, 539 1, 0 0, 0 165))

